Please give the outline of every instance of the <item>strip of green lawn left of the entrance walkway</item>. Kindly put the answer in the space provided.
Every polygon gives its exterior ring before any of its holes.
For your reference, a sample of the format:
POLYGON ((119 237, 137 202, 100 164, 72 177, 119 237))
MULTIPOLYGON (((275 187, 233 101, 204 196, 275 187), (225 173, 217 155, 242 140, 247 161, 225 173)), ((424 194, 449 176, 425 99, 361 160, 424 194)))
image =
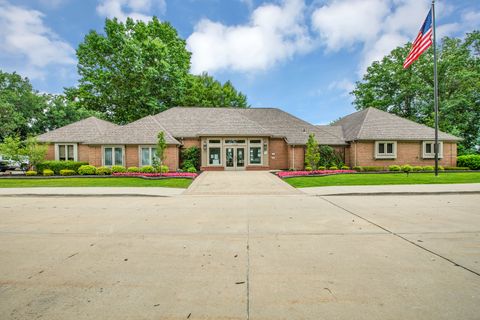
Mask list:
POLYGON ((0 188, 31 187, 166 187, 187 188, 192 179, 170 178, 64 178, 64 179, 0 179, 0 188))

